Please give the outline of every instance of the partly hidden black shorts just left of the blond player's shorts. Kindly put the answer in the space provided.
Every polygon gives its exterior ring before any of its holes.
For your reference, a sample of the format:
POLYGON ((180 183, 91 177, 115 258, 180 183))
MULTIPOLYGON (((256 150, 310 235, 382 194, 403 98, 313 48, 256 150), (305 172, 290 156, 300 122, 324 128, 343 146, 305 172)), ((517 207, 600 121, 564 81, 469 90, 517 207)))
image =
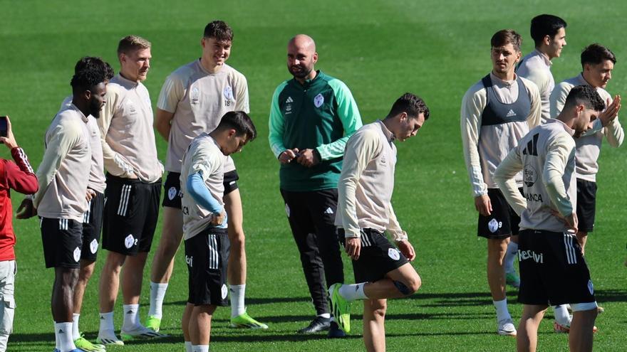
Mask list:
POLYGON ((81 259, 95 262, 100 244, 100 230, 103 229, 103 212, 105 210, 105 195, 95 192, 89 201, 89 210, 83 216, 83 248, 81 259))

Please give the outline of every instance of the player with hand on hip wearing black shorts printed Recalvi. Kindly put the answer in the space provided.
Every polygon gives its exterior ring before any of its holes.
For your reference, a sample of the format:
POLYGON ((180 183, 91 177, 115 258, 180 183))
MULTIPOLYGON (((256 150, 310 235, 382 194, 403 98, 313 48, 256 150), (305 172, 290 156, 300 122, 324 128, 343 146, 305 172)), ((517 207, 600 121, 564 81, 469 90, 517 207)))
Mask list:
MULTIPOLYGON (((571 303, 570 351, 592 351, 594 286, 576 240, 575 141, 605 109, 594 87, 570 90, 556 119, 520 139, 494 171, 494 181, 520 216, 517 351, 536 351, 538 326, 550 304, 571 303), (515 177, 523 171, 521 194, 515 177)), ((578 156, 579 157, 579 156, 578 156)))

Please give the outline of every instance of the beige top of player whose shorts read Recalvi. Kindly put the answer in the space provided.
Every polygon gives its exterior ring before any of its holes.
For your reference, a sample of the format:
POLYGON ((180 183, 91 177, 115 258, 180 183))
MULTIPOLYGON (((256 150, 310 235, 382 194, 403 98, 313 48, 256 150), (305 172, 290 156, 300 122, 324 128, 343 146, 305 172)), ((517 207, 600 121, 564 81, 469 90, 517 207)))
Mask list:
POLYGON ((574 130, 557 119, 529 131, 494 172, 507 202, 520 215, 520 228, 564 232, 564 220, 576 209, 574 130), (524 196, 513 177, 523 170, 524 196))

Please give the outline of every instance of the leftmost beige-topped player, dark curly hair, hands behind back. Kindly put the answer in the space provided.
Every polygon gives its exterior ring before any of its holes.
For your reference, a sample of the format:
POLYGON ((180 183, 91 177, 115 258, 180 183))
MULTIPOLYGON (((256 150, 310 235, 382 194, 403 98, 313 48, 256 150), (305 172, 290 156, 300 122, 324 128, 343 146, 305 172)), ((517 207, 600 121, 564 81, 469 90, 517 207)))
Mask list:
POLYGON ((46 267, 55 268, 52 315, 58 351, 76 348, 72 334, 74 287, 81 267, 83 215, 88 210, 91 148, 88 116, 105 105, 105 71, 86 68, 71 81, 72 104, 63 106, 46 132, 46 151, 37 170, 39 191, 25 200, 19 218, 39 215, 46 267))

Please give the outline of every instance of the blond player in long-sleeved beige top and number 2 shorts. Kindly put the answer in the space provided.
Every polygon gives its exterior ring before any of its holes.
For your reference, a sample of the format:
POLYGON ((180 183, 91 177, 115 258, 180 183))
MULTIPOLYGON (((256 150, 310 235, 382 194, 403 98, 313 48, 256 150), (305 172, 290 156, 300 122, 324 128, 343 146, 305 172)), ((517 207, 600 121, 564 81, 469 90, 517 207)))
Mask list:
POLYGON ((118 43, 120 73, 108 84, 107 105, 98 120, 107 169, 100 275, 98 343, 123 345, 115 336, 113 308, 120 271, 124 319, 122 337, 162 336, 142 326, 138 316, 144 265, 157 226, 163 166, 157 159, 152 106, 142 81, 150 69, 150 42, 126 36, 118 43))

